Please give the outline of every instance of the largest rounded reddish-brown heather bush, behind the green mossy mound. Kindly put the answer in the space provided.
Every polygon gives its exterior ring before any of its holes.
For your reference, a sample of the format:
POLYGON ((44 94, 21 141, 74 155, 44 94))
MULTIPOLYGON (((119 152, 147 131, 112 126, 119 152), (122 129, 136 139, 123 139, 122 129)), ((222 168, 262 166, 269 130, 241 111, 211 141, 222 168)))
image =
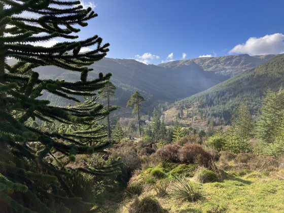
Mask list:
POLYGON ((198 144, 186 144, 180 150, 180 160, 186 163, 198 163, 208 167, 210 161, 214 159, 207 151, 205 151, 201 145, 198 144))

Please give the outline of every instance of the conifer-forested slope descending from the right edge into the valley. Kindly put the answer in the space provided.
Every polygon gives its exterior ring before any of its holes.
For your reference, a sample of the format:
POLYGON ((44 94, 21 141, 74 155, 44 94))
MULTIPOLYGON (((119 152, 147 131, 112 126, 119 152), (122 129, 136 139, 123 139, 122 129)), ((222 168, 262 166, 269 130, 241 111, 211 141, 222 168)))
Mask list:
POLYGON ((284 54, 281 54, 206 91, 177 101, 169 111, 194 108, 198 115, 207 119, 214 117, 228 121, 233 109, 244 102, 252 113, 256 113, 264 92, 269 88, 276 90, 283 85, 283 75, 284 54))

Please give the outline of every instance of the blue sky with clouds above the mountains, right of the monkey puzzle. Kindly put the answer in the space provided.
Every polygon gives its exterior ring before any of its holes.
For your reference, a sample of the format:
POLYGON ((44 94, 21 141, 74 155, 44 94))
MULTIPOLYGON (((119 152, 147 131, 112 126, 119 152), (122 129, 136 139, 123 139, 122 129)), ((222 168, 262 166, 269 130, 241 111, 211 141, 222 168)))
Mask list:
POLYGON ((81 38, 98 34, 111 44, 108 57, 112 58, 157 64, 183 56, 284 52, 283 0, 83 3, 95 6, 98 17, 82 29, 81 38))

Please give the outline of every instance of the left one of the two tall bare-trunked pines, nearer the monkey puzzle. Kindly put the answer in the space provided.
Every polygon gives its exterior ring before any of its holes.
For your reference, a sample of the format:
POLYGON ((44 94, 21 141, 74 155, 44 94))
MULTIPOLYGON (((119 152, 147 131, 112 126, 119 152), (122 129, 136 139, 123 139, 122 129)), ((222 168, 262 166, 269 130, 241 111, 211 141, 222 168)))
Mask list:
MULTIPOLYGON (((107 84, 105 84, 105 86, 103 88, 101 88, 98 91, 100 98, 107 99, 108 110, 110 110, 110 99, 111 99, 111 97, 115 97, 115 89, 116 89, 116 86, 112 82, 109 81, 107 84)), ((108 115, 108 136, 109 136, 109 139, 112 138, 110 115, 108 115)))

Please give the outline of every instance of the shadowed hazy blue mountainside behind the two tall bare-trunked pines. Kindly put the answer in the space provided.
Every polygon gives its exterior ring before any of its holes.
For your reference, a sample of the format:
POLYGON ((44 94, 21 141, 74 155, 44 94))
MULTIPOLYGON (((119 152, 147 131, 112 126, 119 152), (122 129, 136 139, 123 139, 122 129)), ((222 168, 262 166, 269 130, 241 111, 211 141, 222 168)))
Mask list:
MULTIPOLYGON (((9 63, 14 63, 13 59, 9 63)), ((205 72, 195 62, 187 66, 166 68, 156 65, 147 65, 133 59, 104 58, 92 66, 94 72, 90 72, 88 78, 96 78, 101 72, 112 73, 112 82, 117 86, 116 99, 112 104, 119 105, 122 109, 118 114, 123 116, 131 114, 126 110, 126 102, 130 95, 139 91, 146 99, 145 114, 151 113, 155 105, 164 102, 174 102, 189 95, 204 91, 228 77, 215 73, 205 72)), ((40 78, 65 79, 66 81, 78 81, 80 73, 70 72, 53 66, 45 66, 36 69, 40 78)), ((52 94, 45 93, 43 98, 48 98, 52 103, 66 105, 67 99, 56 99, 52 94)))

